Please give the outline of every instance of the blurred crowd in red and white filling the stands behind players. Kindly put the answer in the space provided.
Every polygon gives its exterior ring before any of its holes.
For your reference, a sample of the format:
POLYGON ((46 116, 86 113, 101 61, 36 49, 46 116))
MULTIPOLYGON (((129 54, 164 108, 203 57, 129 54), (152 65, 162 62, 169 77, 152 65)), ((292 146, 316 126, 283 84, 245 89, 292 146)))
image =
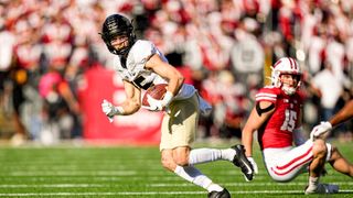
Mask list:
MULTIPOLYGON (((77 87, 90 67, 114 69, 98 32, 117 12, 214 107, 200 138, 240 138, 255 92, 284 56, 303 69, 308 133, 352 98, 352 1, 0 0, 1 138, 82 136, 77 87)), ((333 136, 350 141, 352 123, 333 136)))

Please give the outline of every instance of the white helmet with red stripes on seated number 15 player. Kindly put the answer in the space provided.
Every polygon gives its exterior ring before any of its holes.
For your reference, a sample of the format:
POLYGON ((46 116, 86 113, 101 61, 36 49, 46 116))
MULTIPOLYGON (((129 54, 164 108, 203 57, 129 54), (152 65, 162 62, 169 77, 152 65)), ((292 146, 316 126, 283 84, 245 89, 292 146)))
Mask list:
POLYGON ((293 95, 301 84, 301 69, 298 62, 291 57, 282 57, 278 59, 271 67, 271 84, 275 87, 280 87, 287 95, 293 95), (298 75, 298 84, 296 87, 284 86, 280 80, 280 75, 291 74, 298 75))

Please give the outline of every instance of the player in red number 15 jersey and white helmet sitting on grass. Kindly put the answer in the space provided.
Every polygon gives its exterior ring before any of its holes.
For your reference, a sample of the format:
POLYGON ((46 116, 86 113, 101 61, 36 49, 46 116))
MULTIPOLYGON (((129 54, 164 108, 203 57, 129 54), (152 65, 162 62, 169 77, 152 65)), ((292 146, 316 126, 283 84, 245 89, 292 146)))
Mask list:
POLYGON ((271 73, 272 85, 258 91, 256 106, 243 129, 246 156, 253 155, 253 135, 257 131, 265 166, 274 180, 290 182, 309 170, 304 194, 338 193, 339 186, 319 183, 324 164, 330 163, 335 170, 350 177, 353 176, 353 166, 324 140, 303 138, 300 81, 301 70, 297 61, 284 57, 276 62, 271 73))

